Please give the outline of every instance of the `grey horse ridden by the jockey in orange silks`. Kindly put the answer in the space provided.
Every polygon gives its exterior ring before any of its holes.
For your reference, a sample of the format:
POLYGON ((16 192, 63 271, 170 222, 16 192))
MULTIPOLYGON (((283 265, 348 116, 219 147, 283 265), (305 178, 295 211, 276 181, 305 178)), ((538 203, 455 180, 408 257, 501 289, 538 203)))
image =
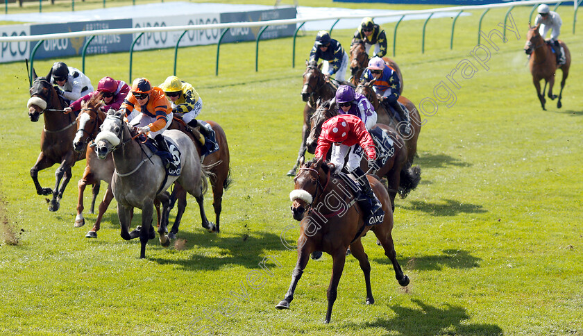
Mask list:
MULTIPOLYGON (((108 153, 112 153, 115 174, 112 176, 111 187, 117 201, 121 237, 124 240, 140 237, 140 258, 146 258, 146 243, 155 237, 152 226, 154 200, 158 199, 162 207, 166 209, 169 206, 169 194, 165 190, 174 181, 196 198, 201 208, 203 227, 209 232, 214 232, 215 226, 208 221, 203 209, 206 178, 192 140, 180 131, 164 132, 164 136, 176 144, 180 151, 180 162, 182 162, 180 176, 166 176, 162 160, 154 156, 146 146, 133 140, 130 126, 123 118, 123 111, 110 110, 94 142, 98 158, 105 159, 108 153), (142 226, 128 232, 133 208, 142 209, 142 226)), ((167 213, 167 211, 162 211, 158 229, 160 244, 164 247, 170 244, 169 237, 166 235, 167 213)))

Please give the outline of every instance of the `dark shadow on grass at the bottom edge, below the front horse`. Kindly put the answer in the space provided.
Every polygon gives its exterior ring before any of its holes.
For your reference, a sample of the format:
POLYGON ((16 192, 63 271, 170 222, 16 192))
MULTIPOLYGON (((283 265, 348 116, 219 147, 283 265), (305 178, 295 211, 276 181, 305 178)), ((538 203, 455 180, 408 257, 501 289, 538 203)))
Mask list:
POLYGON ((459 305, 443 305, 443 308, 427 305, 421 300, 411 300, 419 308, 390 308, 396 316, 390 319, 379 317, 364 324, 350 324, 353 328, 384 328, 387 334, 396 335, 504 335, 496 324, 468 324, 471 318, 466 308, 459 305))

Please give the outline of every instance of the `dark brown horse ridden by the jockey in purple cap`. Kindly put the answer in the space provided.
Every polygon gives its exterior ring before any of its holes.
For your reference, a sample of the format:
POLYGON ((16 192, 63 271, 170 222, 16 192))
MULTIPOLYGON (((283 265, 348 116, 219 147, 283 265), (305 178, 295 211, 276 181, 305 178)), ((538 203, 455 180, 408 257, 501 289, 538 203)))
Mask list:
MULTIPOLYGON (((330 106, 330 101, 319 103, 316 112, 312 115, 310 135, 307 137, 307 151, 314 153, 318 144, 318 138, 322 131, 324 121, 338 115, 338 111, 330 106)), ((391 199, 391 208, 395 210, 395 196, 398 193, 402 199, 414 190, 421 180, 421 169, 416 167, 405 167, 407 161, 407 147, 403 138, 398 133, 385 124, 375 124, 374 128, 380 128, 387 135, 389 141, 392 141, 394 153, 386 158, 386 161, 378 171, 373 174, 379 178, 387 178, 387 191, 391 199)), ((363 171, 367 170, 368 161, 362 158, 360 166, 363 171)))

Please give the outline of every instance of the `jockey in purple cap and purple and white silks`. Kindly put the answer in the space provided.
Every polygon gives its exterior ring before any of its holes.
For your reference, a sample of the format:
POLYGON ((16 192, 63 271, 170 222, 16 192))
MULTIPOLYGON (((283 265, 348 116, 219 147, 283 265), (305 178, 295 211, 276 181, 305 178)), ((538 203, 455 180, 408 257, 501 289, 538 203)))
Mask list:
POLYGON ((366 131, 376 124, 377 113, 375 108, 373 108, 369 99, 366 99, 366 96, 355 92, 352 87, 340 85, 336 90, 336 103, 339 114, 359 117, 364 122, 366 131))

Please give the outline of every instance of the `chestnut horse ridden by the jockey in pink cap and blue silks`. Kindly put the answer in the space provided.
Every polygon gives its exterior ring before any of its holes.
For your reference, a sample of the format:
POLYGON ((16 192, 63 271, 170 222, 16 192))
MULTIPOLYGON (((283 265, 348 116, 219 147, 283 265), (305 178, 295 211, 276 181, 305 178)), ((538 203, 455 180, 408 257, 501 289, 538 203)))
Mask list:
MULTIPOLYGON (((396 119, 394 119, 393 113, 387 111, 387 109, 385 108, 385 104, 380 103, 380 101, 378 100, 378 97, 373 90, 374 83, 375 83, 374 80, 369 82, 362 82, 356 87, 355 91, 366 96, 366 99, 369 99, 369 101, 375 108, 375 111, 377 112, 378 115, 377 122, 379 124, 389 125, 392 126, 394 129, 398 129, 397 128, 398 123, 396 119)), ((404 96, 399 96, 398 101, 405 105, 407 110, 409 110, 411 134, 405 136, 403 134, 400 134, 399 132, 399 135, 403 137, 403 140, 405 140, 405 146, 407 146, 408 165, 405 167, 409 168, 413 165, 413 160, 417 153, 417 138, 419 138, 419 133, 421 132, 421 116, 419 115, 419 111, 415 107, 414 103, 412 103, 412 101, 410 101, 409 99, 405 98, 404 96)))

